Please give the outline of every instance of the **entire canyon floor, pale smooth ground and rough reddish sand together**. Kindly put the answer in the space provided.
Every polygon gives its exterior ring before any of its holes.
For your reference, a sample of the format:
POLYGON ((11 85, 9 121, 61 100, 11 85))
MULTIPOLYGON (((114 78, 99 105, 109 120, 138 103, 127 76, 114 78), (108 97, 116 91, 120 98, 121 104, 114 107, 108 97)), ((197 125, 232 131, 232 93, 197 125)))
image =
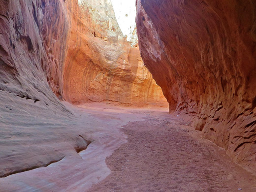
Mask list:
POLYGON ((64 105, 92 143, 0 178, 0 192, 256 192, 255 175, 168 109, 64 105))

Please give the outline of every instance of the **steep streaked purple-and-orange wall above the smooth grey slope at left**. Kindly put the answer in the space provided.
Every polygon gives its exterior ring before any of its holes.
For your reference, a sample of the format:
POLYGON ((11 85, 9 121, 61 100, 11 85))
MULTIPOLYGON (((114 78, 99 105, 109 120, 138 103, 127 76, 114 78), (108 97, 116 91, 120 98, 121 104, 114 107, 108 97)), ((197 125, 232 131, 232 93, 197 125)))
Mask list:
POLYGON ((68 30, 64 2, 4 0, 0 13, 1 89, 35 100, 38 92, 52 97, 48 82, 61 95, 68 30))

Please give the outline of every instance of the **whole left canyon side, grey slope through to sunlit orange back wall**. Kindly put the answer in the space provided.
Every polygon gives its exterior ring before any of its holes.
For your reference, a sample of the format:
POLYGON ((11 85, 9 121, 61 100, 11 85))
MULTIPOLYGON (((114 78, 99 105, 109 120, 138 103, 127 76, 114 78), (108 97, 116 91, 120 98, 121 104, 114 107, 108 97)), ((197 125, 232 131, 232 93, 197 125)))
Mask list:
POLYGON ((0 178, 84 147, 85 130, 59 99, 164 101, 138 48, 121 37, 113 11, 86 2, 91 6, 81 8, 77 0, 0 0, 0 178), (113 25, 94 16, 92 6, 113 25))

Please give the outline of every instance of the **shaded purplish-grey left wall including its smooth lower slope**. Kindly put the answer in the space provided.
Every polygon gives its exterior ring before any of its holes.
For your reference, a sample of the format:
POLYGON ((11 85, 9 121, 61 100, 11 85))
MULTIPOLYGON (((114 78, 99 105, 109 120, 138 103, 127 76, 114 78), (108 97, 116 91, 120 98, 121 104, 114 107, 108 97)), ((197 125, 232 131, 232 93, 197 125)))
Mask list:
POLYGON ((61 131, 73 118, 55 96, 67 32, 63 0, 0 0, 0 177, 60 160, 68 144, 59 143, 76 144, 78 134, 61 131))

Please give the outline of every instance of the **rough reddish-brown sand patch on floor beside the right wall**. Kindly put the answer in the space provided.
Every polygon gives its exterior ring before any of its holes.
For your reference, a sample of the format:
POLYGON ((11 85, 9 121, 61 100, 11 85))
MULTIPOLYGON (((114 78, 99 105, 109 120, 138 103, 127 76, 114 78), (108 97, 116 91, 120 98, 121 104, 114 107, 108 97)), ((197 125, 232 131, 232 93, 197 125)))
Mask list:
POLYGON ((88 192, 256 192, 256 177, 223 149, 160 115, 124 126, 128 143, 106 159, 111 174, 88 192))

